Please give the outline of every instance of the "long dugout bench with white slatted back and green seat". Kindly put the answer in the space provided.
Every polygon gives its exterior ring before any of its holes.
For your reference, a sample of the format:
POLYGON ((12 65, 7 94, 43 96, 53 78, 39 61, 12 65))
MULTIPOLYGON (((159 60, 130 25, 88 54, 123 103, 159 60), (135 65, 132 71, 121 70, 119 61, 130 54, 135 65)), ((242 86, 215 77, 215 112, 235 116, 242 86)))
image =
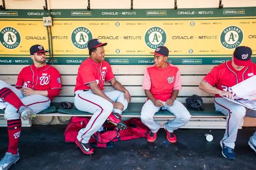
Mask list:
MULTIPOLYGON (((5 67, 1 69, 0 80, 3 80, 11 85, 15 85, 18 71, 26 65, 2 65, 5 67)), ((145 68, 149 65, 112 65, 113 73, 116 79, 127 89, 132 95, 132 102, 129 104, 127 110, 123 111, 123 118, 140 117, 141 108, 146 101, 144 90, 142 89, 142 80, 145 68)), ((185 106, 185 100, 188 96, 197 94, 201 96, 204 101, 204 111, 189 110, 191 118, 189 122, 182 128, 206 128, 206 129, 224 129, 226 125, 226 116, 215 111, 213 104, 214 95, 203 92, 198 88, 202 78, 210 71, 214 65, 177 65, 180 69, 182 90, 180 90, 177 100, 182 102, 185 106)), ((74 102, 74 87, 76 83, 76 75, 79 65, 54 65, 61 75, 63 89, 60 95, 54 99, 53 102, 74 102)), ((106 91, 113 90, 109 83, 105 83, 104 89, 106 91)), ((4 110, 0 110, 0 126, 6 126, 6 121, 3 118, 4 110), (2 121, 2 122, 1 122, 2 121)), ((41 111, 36 118, 40 122, 52 121, 52 116, 58 118, 54 119, 52 124, 60 124, 60 119, 69 119, 71 116, 91 116, 91 113, 82 112, 75 108, 65 110, 50 108, 41 111)), ((173 119, 175 116, 168 111, 161 110, 155 114, 154 119, 163 125, 167 120, 173 119)), ((32 124, 37 124, 32 120, 32 124)), ((31 120, 23 121, 23 126, 31 126, 31 120)), ((243 123, 240 125, 240 128, 243 123)))

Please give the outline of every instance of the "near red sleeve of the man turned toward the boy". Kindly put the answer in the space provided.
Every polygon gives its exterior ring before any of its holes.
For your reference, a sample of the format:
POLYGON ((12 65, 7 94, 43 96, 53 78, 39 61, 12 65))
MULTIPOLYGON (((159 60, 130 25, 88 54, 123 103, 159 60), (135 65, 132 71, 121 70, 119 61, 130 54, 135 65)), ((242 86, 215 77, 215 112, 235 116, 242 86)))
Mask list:
POLYGON ((82 65, 81 67, 79 67, 78 74, 82 78, 82 83, 84 85, 96 82, 93 68, 90 65, 82 65))

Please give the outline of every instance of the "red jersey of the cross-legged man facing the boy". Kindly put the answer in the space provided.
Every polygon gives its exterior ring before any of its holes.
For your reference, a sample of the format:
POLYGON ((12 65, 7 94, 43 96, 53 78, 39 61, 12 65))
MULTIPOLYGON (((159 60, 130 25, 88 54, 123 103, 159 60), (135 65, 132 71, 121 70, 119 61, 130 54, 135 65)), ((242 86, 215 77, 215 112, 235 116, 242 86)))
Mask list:
POLYGON ((104 81, 109 82, 112 79, 115 79, 115 76, 108 62, 96 63, 88 58, 78 68, 75 91, 90 89, 88 84, 92 82, 96 82, 98 88, 103 91, 104 81))

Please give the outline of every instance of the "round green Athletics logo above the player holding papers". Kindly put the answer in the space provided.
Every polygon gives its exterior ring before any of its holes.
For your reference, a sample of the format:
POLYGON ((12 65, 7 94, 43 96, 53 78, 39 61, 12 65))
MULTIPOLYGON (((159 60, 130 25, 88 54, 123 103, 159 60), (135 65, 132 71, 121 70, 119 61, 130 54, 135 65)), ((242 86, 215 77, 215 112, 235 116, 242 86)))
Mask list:
POLYGON ((221 33, 221 44, 225 48, 236 48, 243 41, 243 32, 236 26, 229 26, 221 33))

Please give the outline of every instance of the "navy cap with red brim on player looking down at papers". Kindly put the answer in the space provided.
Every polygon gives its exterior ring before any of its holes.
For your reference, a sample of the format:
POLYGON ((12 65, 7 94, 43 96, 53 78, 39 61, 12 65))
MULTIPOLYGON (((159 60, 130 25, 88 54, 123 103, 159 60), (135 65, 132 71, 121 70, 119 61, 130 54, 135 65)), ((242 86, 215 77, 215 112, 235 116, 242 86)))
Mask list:
POLYGON ((238 46, 233 53, 234 64, 239 66, 248 66, 251 63, 251 48, 248 46, 238 46))

